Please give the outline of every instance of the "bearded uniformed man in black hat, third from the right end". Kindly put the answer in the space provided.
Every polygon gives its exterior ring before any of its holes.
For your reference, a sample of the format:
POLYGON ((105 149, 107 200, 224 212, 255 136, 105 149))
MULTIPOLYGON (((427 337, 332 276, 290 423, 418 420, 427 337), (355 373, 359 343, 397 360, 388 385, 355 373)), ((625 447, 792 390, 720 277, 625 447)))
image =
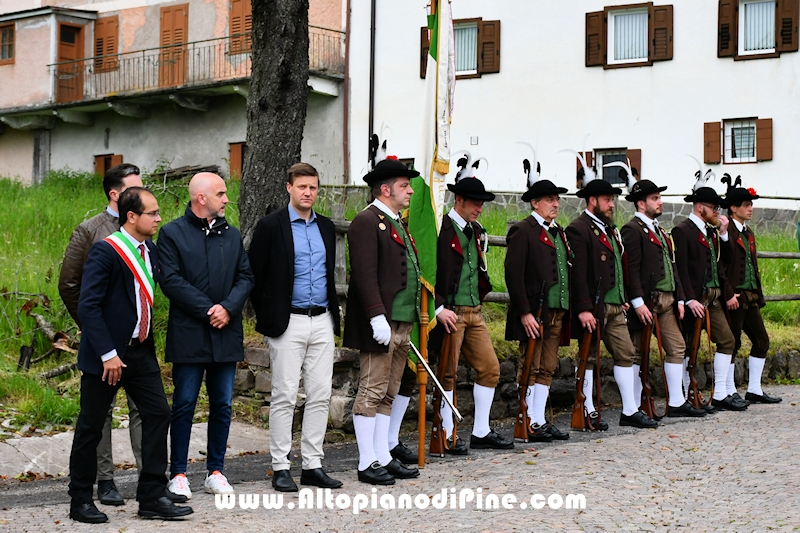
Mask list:
POLYGON ((621 233, 628 256, 628 298, 635 313, 628 319, 634 359, 634 396, 641 405, 642 381, 639 379, 642 356, 642 335, 645 325, 652 324, 666 351, 664 374, 667 377, 670 417, 700 417, 705 411, 697 409, 683 395, 683 358, 686 343, 678 320, 683 319, 683 290, 675 269, 673 244, 667 232, 658 224, 662 213, 659 187, 650 180, 637 181, 625 199, 634 204, 633 220, 622 227, 621 233), (652 309, 646 300, 653 297, 652 309), (657 322, 657 324, 655 323, 657 322))

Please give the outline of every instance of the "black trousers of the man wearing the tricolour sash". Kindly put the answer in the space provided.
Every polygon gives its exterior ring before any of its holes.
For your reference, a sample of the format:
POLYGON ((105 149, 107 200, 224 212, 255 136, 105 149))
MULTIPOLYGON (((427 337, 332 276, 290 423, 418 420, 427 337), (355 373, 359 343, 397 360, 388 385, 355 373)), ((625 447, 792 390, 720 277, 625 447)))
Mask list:
POLYGON ((81 376, 81 412, 69 458, 69 495, 73 504, 92 501, 97 476, 97 444, 102 436, 108 406, 120 386, 142 417, 142 470, 136 499, 147 502, 164 495, 167 485, 167 432, 170 409, 161 381, 161 370, 150 342, 128 348, 119 383, 111 386, 101 376, 81 376))

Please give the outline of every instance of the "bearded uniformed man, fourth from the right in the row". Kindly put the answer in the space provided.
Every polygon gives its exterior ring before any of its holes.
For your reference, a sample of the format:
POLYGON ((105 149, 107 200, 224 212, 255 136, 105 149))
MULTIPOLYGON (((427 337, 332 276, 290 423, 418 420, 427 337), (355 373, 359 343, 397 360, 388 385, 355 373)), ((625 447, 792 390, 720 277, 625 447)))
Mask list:
MULTIPOLYGON (((603 344, 613 356, 614 379, 622 397, 619 425, 655 428, 658 423, 639 409, 634 394, 636 376, 633 373, 633 359, 636 350, 625 318, 629 308, 625 295, 626 256, 622 237, 613 219, 614 196, 621 192, 621 189, 604 179, 594 179, 577 193, 579 198, 586 200, 586 210, 567 227, 567 237, 574 255, 570 296, 573 320, 576 322, 572 331, 573 336, 579 339, 583 338, 584 329, 599 331, 603 344), (599 320, 592 313, 598 281, 599 320)), ((596 342, 596 339, 592 342, 596 342)), ((595 371, 599 372, 600 369, 595 371)), ((593 372, 587 367, 582 385, 586 395, 586 412, 592 427, 606 430, 608 424, 597 420, 597 413, 594 412, 592 376, 593 372)))

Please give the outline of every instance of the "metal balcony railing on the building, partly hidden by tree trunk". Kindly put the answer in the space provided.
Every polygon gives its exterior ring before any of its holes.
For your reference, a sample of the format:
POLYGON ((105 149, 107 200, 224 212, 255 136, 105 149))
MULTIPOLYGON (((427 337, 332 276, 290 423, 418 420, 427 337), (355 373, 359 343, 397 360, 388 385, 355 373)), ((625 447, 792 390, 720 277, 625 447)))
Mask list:
MULTIPOLYGON (((343 79, 344 32, 309 26, 308 34, 309 73, 343 79)), ((250 78, 251 42, 243 33, 48 65, 55 102, 243 82, 250 78)))

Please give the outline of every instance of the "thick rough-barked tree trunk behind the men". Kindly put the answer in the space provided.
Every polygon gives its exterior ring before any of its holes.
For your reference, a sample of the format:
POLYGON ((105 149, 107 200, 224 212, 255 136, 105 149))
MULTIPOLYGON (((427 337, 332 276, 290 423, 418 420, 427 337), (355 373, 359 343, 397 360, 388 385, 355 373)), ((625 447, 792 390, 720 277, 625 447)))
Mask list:
POLYGON ((261 217, 287 203, 286 171, 300 161, 308 103, 308 0, 253 0, 252 57, 239 196, 248 248, 261 217))

